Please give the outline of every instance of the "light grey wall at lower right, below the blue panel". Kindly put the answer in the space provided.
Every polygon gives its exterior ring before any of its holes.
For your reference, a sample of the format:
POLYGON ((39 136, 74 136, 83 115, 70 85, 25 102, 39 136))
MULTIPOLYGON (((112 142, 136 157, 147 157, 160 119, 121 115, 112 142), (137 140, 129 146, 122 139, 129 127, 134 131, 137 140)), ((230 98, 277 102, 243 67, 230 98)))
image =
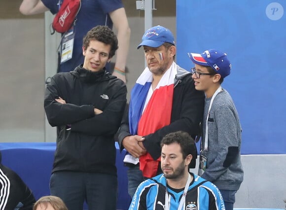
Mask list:
MULTIPOLYGON (((197 174, 196 169, 191 172, 197 174)), ((244 181, 236 193, 235 208, 285 209, 286 155, 242 155, 244 181)))

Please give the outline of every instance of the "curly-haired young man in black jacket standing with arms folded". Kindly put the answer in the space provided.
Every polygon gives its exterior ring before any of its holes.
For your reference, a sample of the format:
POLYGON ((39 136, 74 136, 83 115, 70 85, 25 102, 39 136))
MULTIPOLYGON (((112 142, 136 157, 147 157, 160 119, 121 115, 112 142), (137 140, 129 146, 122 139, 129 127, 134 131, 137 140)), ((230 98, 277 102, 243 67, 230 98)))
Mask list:
POLYGON ((57 148, 50 180, 51 195, 69 210, 115 210, 117 132, 126 104, 123 81, 105 70, 118 48, 106 26, 91 29, 83 39, 83 65, 54 75, 45 91, 44 107, 57 126, 57 148))

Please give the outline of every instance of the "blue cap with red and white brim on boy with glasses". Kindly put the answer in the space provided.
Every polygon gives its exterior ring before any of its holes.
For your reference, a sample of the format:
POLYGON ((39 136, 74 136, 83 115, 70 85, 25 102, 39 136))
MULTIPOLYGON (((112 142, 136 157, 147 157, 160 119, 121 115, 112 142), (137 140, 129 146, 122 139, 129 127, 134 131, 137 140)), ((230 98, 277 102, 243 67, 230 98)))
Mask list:
POLYGON ((230 74, 231 64, 226 56, 219 50, 206 50, 202 54, 188 53, 194 64, 212 67, 222 78, 230 74))

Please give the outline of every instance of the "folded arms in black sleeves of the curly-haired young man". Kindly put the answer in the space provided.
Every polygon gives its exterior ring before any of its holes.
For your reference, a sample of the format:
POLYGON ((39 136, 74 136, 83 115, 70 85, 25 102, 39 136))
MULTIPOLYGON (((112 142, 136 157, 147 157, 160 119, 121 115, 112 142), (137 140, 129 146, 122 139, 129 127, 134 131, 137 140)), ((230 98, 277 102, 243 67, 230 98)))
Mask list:
MULTIPOLYGON (((54 77, 57 76, 56 74, 54 77)), ((68 103, 71 102, 73 95, 69 94, 68 90, 64 90, 66 93, 63 94, 61 91, 63 88, 60 89, 56 81, 63 83, 63 80, 52 78, 45 90, 44 108, 51 126, 71 125, 71 132, 92 136, 116 133, 126 104, 125 85, 114 87, 116 92, 104 110, 100 110, 92 105, 92 102, 87 105, 68 103)))

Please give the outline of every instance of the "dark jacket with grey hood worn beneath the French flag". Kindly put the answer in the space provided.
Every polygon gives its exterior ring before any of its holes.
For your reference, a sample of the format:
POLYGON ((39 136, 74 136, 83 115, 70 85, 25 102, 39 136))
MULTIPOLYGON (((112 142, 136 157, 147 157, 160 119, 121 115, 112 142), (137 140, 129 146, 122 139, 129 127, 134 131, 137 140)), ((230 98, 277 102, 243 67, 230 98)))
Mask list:
MULTIPOLYGON (((193 138, 200 134, 199 124, 203 117, 205 95, 203 91, 195 89, 191 73, 177 65, 178 74, 174 82, 173 106, 171 113, 171 124, 155 133, 144 136, 143 145, 154 160, 161 155, 160 142, 164 136, 176 131, 185 131, 193 138)), ((132 100, 132 99, 131 99, 132 100)), ((121 150, 124 148, 122 140, 131 136, 129 131, 128 108, 118 132, 118 142, 121 150)), ((196 157, 195 157, 196 158, 196 157)), ((190 168, 195 167, 195 158, 190 168)))

